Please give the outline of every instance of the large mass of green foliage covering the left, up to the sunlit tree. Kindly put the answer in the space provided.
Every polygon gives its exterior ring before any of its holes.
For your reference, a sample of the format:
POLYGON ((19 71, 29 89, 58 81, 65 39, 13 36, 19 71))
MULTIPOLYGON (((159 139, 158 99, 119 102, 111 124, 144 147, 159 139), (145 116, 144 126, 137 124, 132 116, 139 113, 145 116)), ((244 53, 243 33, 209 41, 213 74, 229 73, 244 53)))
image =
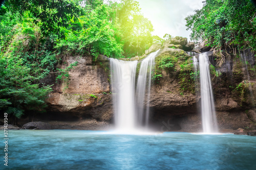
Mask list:
POLYGON ((56 69, 65 57, 134 57, 163 42, 134 0, 8 0, 0 20, 0 109, 16 117, 44 110, 51 86, 40 82, 49 74, 68 87, 78 63, 56 69))

